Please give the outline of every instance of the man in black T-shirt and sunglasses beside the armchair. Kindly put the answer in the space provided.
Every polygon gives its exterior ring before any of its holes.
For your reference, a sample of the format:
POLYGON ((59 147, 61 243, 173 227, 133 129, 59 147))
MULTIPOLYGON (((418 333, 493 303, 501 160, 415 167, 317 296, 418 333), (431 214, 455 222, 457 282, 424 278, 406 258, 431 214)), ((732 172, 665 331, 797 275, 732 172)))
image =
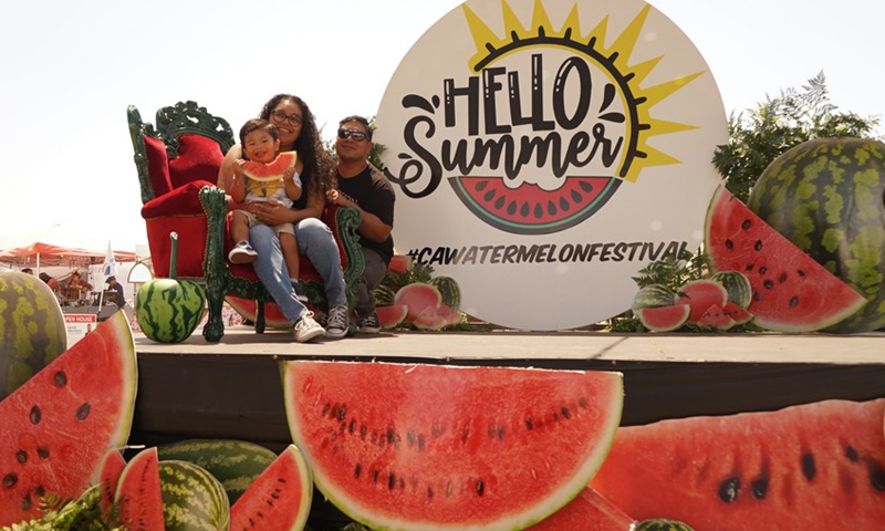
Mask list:
POLYGON ((381 170, 368 163, 372 128, 362 116, 347 116, 339 123, 335 139, 337 189, 329 191, 329 202, 356 207, 363 215, 357 232, 366 269, 356 284, 357 331, 375 334, 381 330, 372 291, 381 285, 394 256, 394 187, 381 170))

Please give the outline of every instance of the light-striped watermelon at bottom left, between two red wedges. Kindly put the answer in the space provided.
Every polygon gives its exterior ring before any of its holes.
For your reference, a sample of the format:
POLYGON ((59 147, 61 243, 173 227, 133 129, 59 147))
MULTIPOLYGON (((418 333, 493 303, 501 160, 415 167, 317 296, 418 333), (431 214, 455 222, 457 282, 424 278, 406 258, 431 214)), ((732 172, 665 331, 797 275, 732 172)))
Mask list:
POLYGON ((215 476, 192 462, 159 461, 166 531, 230 528, 230 501, 215 476))

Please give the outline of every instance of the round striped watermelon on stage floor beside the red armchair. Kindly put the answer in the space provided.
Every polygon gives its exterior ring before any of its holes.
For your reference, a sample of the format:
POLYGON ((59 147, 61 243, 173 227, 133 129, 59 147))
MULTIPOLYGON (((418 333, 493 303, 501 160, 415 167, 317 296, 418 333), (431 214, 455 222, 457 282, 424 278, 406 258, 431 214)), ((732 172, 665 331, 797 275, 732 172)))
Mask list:
POLYGON ((206 293, 194 281, 155 279, 135 295, 135 317, 142 332, 159 343, 180 343, 197 330, 206 293))

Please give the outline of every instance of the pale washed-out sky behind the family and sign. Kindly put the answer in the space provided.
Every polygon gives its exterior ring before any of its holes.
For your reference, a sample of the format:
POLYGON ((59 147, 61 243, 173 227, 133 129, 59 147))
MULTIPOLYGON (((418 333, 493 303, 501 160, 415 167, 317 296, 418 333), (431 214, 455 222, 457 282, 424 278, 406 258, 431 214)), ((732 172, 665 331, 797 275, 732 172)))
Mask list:
MULTIPOLYGON (((519 1, 530 0, 513 3, 519 1)), ((127 105, 153 122, 158 107, 196 100, 236 129, 270 95, 292 92, 311 105, 329 137, 339 118, 376 113, 399 60, 460 3, 10 4, 0 20, 0 155, 7 184, 0 194, 0 248, 38 239, 53 226, 71 241, 96 242, 100 249, 107 240, 123 250, 146 242, 127 105)), ((727 113, 823 71, 840 110, 885 114, 885 44, 874 0, 649 3, 693 40, 727 113)))

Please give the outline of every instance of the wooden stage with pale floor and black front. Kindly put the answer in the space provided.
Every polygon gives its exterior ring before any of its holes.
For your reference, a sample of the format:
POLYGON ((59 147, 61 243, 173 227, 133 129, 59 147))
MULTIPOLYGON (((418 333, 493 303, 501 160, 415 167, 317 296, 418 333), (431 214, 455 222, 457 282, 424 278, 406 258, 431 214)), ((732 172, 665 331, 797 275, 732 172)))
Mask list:
POLYGON ((863 335, 397 332, 298 344, 284 331, 195 333, 164 345, 136 334, 139 382, 131 444, 291 439, 278 362, 294 358, 620 371, 623 425, 770 410, 827 398, 885 397, 885 333, 863 335))

